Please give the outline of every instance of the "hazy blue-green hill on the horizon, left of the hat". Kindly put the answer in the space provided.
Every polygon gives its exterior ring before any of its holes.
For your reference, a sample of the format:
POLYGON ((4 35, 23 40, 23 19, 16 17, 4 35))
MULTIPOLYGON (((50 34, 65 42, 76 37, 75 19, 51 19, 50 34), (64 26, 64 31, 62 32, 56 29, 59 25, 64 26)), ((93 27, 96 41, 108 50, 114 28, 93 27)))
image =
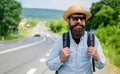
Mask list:
POLYGON ((25 18, 38 18, 41 20, 53 20, 62 18, 62 10, 23 8, 22 16, 25 18))

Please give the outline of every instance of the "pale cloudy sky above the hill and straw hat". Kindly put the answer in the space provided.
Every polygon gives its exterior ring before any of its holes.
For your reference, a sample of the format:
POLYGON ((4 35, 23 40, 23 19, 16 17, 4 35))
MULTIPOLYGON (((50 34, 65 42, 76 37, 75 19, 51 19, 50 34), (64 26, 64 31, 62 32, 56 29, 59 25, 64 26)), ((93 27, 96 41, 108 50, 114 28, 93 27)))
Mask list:
POLYGON ((17 0, 21 2, 23 8, 47 8, 66 10, 71 5, 80 4, 89 10, 93 2, 99 0, 17 0))

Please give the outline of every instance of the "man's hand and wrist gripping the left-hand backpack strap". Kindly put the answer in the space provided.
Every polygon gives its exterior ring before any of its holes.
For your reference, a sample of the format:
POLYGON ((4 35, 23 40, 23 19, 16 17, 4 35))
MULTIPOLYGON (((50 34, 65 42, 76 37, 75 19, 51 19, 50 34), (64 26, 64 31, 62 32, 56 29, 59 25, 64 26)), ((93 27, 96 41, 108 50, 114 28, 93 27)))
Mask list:
POLYGON ((71 55, 71 51, 68 47, 62 48, 60 52, 60 61, 65 61, 71 55))

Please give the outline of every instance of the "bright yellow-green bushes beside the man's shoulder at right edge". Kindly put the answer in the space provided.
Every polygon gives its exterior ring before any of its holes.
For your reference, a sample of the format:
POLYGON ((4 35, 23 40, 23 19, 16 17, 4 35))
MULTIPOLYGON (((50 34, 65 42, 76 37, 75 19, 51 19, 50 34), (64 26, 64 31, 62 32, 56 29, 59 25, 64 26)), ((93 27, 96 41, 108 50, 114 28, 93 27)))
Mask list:
POLYGON ((99 38, 105 55, 120 67, 120 25, 102 25, 95 32, 99 38))

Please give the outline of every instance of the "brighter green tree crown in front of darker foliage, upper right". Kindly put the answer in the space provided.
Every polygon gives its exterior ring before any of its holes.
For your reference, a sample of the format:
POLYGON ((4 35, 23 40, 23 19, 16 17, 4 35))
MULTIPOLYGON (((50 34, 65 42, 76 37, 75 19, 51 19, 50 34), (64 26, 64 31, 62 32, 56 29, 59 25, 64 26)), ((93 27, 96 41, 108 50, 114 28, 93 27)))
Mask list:
POLYGON ((97 21, 94 24, 95 27, 97 27, 97 24, 101 23, 103 23, 104 27, 106 27, 113 20, 114 13, 114 9, 112 9, 110 6, 103 6, 101 10, 95 14, 96 19, 94 19, 94 21, 97 21))

